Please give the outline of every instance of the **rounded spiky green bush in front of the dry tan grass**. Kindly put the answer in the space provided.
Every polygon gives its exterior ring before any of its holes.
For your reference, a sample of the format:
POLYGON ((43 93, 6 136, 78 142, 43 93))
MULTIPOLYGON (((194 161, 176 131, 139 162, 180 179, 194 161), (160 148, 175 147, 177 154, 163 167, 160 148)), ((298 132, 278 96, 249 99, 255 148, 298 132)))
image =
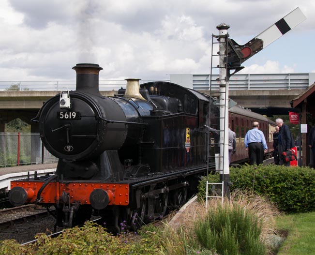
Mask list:
POLYGON ((238 204, 219 204, 199 220, 195 233, 208 250, 221 255, 264 255, 266 247, 259 239, 261 222, 238 204))

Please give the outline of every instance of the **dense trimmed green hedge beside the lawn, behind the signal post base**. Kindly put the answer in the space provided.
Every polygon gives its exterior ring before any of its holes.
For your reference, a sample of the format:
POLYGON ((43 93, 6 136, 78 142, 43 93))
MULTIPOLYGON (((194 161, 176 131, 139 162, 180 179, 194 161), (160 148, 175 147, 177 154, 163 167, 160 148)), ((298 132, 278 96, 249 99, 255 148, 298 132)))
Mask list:
MULTIPOLYGON (((210 182, 218 182, 219 175, 209 175, 210 182)), ((266 196, 284 212, 315 211, 315 169, 280 165, 230 168, 230 190, 249 190, 266 196)), ((199 183, 199 197, 205 198, 206 178, 199 183)))

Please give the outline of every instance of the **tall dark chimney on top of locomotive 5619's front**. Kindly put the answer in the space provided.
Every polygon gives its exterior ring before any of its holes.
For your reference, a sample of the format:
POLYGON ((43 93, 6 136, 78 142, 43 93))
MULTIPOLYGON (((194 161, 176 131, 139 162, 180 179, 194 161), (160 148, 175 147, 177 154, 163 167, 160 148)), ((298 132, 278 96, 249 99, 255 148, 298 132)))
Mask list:
POLYGON ((76 64, 72 69, 76 72, 76 91, 101 95, 98 84, 102 67, 98 64, 76 64))

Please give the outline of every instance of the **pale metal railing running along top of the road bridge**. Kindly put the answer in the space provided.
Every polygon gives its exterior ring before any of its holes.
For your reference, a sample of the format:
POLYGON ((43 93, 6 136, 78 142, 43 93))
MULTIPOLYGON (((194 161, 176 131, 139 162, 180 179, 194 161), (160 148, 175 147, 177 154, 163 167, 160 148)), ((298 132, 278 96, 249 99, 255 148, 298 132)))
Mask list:
MULTIPOLYGON (((165 80, 140 80, 140 84, 149 81, 172 81, 172 77, 180 76, 177 82, 182 86, 188 86, 195 90, 209 90, 209 74, 205 75, 170 75, 165 80), (188 77, 188 78, 187 78, 188 77), (183 84, 180 81, 186 80, 183 84)), ((219 75, 212 75, 212 89, 219 90, 219 75)), ((307 89, 313 84, 314 73, 292 73, 292 74, 236 74, 229 80, 229 90, 293 90, 307 89)), ((119 90, 126 87, 125 80, 100 80, 99 89, 119 90)), ((60 91, 75 90, 75 80, 60 81, 0 81, 0 91, 60 91)))

